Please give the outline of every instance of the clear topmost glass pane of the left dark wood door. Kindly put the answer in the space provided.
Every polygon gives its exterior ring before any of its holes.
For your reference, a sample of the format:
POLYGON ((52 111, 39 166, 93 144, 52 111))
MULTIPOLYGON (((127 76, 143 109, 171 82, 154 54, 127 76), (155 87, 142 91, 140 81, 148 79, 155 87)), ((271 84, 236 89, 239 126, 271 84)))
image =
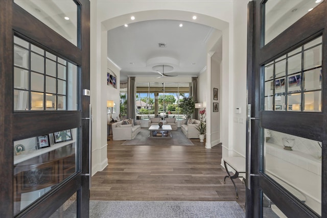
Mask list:
POLYGON ((14 3, 39 19, 69 42, 77 45, 78 7, 73 0, 14 0, 14 3))

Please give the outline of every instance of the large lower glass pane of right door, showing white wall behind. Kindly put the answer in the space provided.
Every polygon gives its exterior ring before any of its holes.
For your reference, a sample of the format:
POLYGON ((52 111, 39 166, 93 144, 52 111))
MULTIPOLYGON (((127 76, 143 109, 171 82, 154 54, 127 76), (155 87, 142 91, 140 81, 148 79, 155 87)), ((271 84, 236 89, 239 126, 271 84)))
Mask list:
POLYGON ((321 142, 264 130, 264 173, 321 212, 321 142))

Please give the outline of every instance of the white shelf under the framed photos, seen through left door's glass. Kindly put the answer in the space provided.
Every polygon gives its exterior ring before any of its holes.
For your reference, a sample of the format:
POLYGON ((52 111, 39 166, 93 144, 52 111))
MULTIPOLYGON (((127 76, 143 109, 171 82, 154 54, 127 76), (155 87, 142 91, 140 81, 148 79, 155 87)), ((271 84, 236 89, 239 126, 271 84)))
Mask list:
POLYGON ((45 154, 45 153, 51 152, 53 150, 59 149, 61 147, 67 146, 68 144, 72 144, 72 143, 75 143, 75 140, 69 140, 69 141, 65 141, 65 142, 61 142, 61 143, 57 143, 57 144, 52 144, 48 148, 43 148, 43 149, 39 149, 39 150, 24 151, 23 154, 14 156, 14 165, 17 164, 17 163, 20 163, 22 161, 26 161, 28 159, 31 159, 33 157, 37 157, 37 156, 39 156, 41 154, 45 154))

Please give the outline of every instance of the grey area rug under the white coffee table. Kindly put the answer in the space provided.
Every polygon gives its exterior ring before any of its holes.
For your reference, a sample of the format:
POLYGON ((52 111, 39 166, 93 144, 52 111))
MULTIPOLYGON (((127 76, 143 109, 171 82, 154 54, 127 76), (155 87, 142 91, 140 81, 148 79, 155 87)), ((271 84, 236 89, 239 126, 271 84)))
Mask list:
POLYGON ((124 146, 194 146, 192 141, 179 129, 172 131, 172 137, 148 137, 148 128, 142 128, 132 140, 122 143, 124 146))

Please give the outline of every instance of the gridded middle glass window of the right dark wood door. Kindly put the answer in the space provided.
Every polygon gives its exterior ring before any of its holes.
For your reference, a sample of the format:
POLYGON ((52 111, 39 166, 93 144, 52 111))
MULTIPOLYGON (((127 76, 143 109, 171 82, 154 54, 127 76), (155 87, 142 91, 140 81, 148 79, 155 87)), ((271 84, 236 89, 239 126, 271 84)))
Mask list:
POLYGON ((262 108, 264 110, 271 110, 271 107, 268 107, 268 96, 275 94, 275 110, 321 111, 321 46, 321 36, 319 36, 289 52, 286 59, 284 59, 284 55, 281 56, 283 58, 282 60, 281 58, 277 58, 272 61, 275 64, 269 63, 267 66, 263 65, 262 77, 264 77, 263 80, 265 81, 263 86, 265 103, 262 108), (287 69, 283 71, 286 65, 287 69), (303 69, 302 66, 304 67, 303 69), (271 76, 271 74, 273 75, 271 76), (274 80, 270 80, 270 78, 274 78, 274 80), (287 86, 285 86, 286 79, 287 86), (272 81, 274 81, 273 87, 272 81), (305 91, 317 91, 317 93, 314 94, 314 97, 311 94, 307 94, 307 103, 302 105, 301 101, 305 99, 305 91), (312 98, 314 98, 314 101, 312 98), (286 101, 287 107, 285 106, 286 101))

